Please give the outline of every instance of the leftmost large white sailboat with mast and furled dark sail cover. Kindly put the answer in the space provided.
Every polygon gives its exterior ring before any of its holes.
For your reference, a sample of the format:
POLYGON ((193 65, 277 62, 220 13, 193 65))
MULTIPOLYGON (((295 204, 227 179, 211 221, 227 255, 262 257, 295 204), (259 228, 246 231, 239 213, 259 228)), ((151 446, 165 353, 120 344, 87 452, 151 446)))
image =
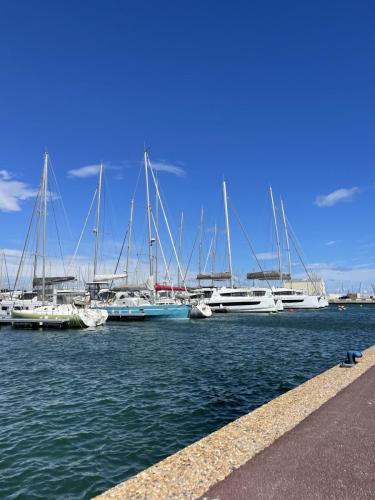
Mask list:
MULTIPOLYGON (((88 308, 78 308, 73 304, 52 304, 46 301, 47 286, 52 287, 56 283, 71 281, 74 277, 47 277, 46 276, 46 243, 47 243, 47 198, 48 198, 48 153, 44 154, 43 175, 40 188, 39 217, 43 218, 43 255, 42 255, 42 277, 36 276, 36 263, 38 250, 35 252, 35 267, 33 287, 39 288, 41 292, 41 305, 33 308, 12 309, 13 318, 22 319, 58 319, 67 320, 71 328, 94 327, 105 323, 108 314, 106 311, 92 311, 88 308)), ((40 219, 38 220, 39 229, 40 219)), ((38 231, 39 232, 39 231, 38 231)), ((37 244, 39 235, 37 234, 37 244)), ((21 268, 22 262, 20 263, 21 268)))

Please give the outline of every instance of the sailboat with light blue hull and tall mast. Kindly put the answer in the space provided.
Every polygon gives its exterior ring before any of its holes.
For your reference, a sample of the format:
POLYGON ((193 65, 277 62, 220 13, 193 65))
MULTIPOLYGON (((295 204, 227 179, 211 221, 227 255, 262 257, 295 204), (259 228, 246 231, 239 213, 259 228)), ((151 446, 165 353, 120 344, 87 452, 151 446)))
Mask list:
MULTIPOLYGON (((107 290, 106 300, 96 302, 94 307, 101 308, 108 312, 109 319, 132 319, 134 317, 140 317, 144 319, 187 319, 190 317, 191 305, 181 303, 178 300, 173 300, 169 303, 158 303, 156 293, 155 293, 155 279, 154 279, 154 256, 153 256, 153 245, 155 238, 152 234, 151 222, 151 204, 150 204, 150 188, 149 188, 149 173, 152 175, 154 181, 156 195, 158 197, 160 208, 163 212, 165 222, 169 235, 171 237, 169 224, 165 216, 164 205, 162 203, 158 183, 154 172, 151 167, 151 163, 148 157, 147 150, 144 151, 144 171, 145 171, 145 186, 146 186, 146 213, 147 213, 147 239, 148 239, 148 264, 149 264, 149 277, 146 283, 142 286, 139 284, 118 287, 119 289, 107 290), (142 293, 146 291, 147 293, 142 293)), ((132 210, 133 204, 131 205, 131 220, 132 220, 132 210)), ((157 228, 155 228, 157 231, 157 228)), ((131 234, 131 231, 129 231, 131 234)), ((128 240, 128 245, 129 245, 128 240)), ((176 249, 174 246, 173 239, 171 239, 172 247, 176 254, 176 249)), ((128 247, 129 250, 129 247, 128 247)), ((129 255, 129 252, 128 252, 129 255)), ((178 258, 177 264, 179 265, 178 258)), ((128 265, 128 259, 127 259, 128 265)), ((99 294, 100 296, 100 294, 99 294)), ((103 294, 102 294, 103 296, 103 294)))

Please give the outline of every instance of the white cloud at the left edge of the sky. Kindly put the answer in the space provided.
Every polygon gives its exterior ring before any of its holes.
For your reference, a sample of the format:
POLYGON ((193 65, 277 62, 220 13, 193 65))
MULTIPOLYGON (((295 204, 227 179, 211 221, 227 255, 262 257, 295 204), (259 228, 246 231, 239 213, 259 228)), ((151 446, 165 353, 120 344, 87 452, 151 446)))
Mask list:
POLYGON ((24 182, 13 180, 7 170, 0 170, 0 211, 19 212, 20 202, 34 198, 37 194, 36 189, 24 182))

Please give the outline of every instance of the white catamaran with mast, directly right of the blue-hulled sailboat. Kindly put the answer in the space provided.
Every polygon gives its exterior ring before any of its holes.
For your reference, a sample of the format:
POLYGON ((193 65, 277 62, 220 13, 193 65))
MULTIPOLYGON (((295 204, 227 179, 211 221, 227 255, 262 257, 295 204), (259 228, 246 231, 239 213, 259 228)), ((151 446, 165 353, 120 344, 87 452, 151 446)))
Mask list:
POLYGON ((232 250, 228 216, 228 195, 226 182, 223 181, 223 198, 225 214, 225 233, 229 271, 224 273, 198 274, 197 279, 223 280, 228 279, 230 286, 212 288, 211 296, 206 304, 214 312, 236 313, 273 313, 279 310, 278 301, 267 288, 235 288, 233 284, 232 250))

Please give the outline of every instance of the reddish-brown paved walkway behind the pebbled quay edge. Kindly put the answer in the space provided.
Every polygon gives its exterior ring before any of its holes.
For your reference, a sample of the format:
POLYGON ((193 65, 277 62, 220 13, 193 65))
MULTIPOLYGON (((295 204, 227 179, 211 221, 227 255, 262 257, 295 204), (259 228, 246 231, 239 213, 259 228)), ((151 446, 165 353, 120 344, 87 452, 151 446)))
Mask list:
POLYGON ((375 367, 202 498, 374 499, 375 367))

